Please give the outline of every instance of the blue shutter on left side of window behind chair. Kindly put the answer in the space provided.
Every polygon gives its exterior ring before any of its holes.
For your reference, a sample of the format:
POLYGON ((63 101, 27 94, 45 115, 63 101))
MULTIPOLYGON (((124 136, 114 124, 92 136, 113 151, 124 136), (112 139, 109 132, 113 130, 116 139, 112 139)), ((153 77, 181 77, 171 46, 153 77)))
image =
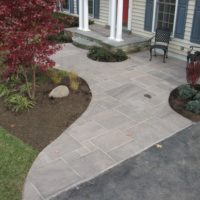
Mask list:
POLYGON ((153 0, 146 0, 146 11, 145 11, 145 22, 144 30, 152 31, 152 20, 153 20, 153 0))

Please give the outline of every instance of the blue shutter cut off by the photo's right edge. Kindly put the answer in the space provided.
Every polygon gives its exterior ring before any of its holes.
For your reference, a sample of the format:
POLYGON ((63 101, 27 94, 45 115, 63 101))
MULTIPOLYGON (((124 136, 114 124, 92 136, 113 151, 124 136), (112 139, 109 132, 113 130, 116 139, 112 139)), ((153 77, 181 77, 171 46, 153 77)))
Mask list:
POLYGON ((200 44, 200 0, 196 0, 192 24, 191 42, 200 44))

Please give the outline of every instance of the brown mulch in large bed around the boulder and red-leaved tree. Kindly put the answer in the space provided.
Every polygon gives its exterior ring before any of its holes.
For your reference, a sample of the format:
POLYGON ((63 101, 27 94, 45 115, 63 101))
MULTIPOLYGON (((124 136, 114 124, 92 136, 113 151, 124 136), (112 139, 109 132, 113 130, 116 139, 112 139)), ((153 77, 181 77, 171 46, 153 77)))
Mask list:
MULTIPOLYGON (((67 84, 67 81, 66 81, 67 84)), ((66 98, 49 99, 52 83, 42 84, 37 91, 36 106, 23 113, 13 113, 0 101, 0 125, 32 147, 42 150, 55 140, 86 110, 91 101, 87 83, 80 79, 76 92, 66 98)))

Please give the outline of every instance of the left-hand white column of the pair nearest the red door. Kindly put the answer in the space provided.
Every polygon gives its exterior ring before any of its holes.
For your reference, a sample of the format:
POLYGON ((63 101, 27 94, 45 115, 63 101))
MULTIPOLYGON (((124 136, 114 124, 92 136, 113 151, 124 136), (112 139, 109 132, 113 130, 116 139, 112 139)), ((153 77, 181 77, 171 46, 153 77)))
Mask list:
POLYGON ((111 23, 110 23, 110 39, 115 40, 116 36, 116 0, 111 0, 111 23))

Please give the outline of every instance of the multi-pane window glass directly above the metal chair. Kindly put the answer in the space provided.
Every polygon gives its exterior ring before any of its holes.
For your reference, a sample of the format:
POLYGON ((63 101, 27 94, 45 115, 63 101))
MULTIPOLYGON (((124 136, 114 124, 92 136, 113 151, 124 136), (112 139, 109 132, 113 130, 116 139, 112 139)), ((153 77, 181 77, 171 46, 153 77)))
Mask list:
POLYGON ((173 32, 176 0, 158 0, 155 13, 155 29, 168 28, 173 32))

